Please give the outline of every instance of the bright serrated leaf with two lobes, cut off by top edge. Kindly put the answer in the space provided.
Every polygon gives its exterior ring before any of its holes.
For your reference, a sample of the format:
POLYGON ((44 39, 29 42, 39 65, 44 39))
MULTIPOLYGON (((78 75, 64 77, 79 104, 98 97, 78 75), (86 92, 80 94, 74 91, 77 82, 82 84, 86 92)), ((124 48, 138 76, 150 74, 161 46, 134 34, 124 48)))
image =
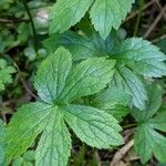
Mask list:
POLYGON ((90 18, 95 30, 106 39, 112 28, 116 30, 120 28, 133 2, 133 0, 58 0, 50 14, 50 33, 66 31, 90 9, 90 18))

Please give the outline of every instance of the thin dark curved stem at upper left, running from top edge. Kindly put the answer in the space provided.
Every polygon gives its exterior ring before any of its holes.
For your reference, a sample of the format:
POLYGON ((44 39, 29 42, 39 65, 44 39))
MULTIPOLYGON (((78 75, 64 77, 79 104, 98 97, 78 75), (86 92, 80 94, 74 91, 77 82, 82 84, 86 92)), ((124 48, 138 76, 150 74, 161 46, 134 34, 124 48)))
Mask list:
POLYGON ((22 3, 24 6, 24 9, 25 9, 25 11, 29 15, 30 22, 31 22, 32 32, 33 32, 33 41, 34 41, 34 50, 35 50, 35 53, 38 53, 38 37, 37 37, 34 22, 33 22, 33 19, 32 19, 32 15, 31 15, 31 12, 30 12, 30 9, 29 9, 29 6, 28 6, 27 1, 22 0, 22 3))

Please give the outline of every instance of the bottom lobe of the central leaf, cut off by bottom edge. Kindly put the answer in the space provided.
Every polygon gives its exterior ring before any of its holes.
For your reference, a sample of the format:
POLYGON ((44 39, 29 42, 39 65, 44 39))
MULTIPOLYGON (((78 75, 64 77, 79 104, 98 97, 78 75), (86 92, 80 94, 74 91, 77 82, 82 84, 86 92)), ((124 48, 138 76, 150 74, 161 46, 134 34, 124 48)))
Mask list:
POLYGON ((65 166, 71 154, 71 137, 62 120, 62 114, 56 107, 54 114, 41 136, 37 148, 37 166, 65 166))

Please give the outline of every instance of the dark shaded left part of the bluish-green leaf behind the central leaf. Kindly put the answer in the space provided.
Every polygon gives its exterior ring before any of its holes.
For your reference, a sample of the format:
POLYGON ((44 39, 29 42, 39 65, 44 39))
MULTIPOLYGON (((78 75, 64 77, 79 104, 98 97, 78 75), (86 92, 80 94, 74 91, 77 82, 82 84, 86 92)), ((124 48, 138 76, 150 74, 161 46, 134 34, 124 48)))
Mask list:
POLYGON ((49 53, 54 52, 60 45, 70 50, 73 60, 83 60, 93 56, 107 55, 113 51, 113 48, 120 44, 120 35, 122 30, 112 31, 111 35, 104 41, 96 32, 90 37, 84 37, 72 31, 63 34, 52 34, 43 45, 49 53))

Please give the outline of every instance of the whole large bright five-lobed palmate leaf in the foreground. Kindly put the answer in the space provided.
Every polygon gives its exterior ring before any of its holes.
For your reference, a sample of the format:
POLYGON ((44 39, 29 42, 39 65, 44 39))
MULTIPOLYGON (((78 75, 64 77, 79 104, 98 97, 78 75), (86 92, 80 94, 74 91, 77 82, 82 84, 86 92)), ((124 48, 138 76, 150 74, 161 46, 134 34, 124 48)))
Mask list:
POLYGON ((50 54, 39 66, 34 79, 41 102, 19 108, 8 125, 8 159, 20 156, 41 134, 35 153, 37 165, 65 166, 71 151, 65 122, 91 146, 110 148, 122 144, 121 126, 111 114, 70 103, 104 89, 112 79, 114 64, 115 61, 94 58, 72 65, 71 54, 64 48, 50 54), (80 127, 84 131, 80 132, 80 127), (103 139, 93 139, 98 132, 103 139))

